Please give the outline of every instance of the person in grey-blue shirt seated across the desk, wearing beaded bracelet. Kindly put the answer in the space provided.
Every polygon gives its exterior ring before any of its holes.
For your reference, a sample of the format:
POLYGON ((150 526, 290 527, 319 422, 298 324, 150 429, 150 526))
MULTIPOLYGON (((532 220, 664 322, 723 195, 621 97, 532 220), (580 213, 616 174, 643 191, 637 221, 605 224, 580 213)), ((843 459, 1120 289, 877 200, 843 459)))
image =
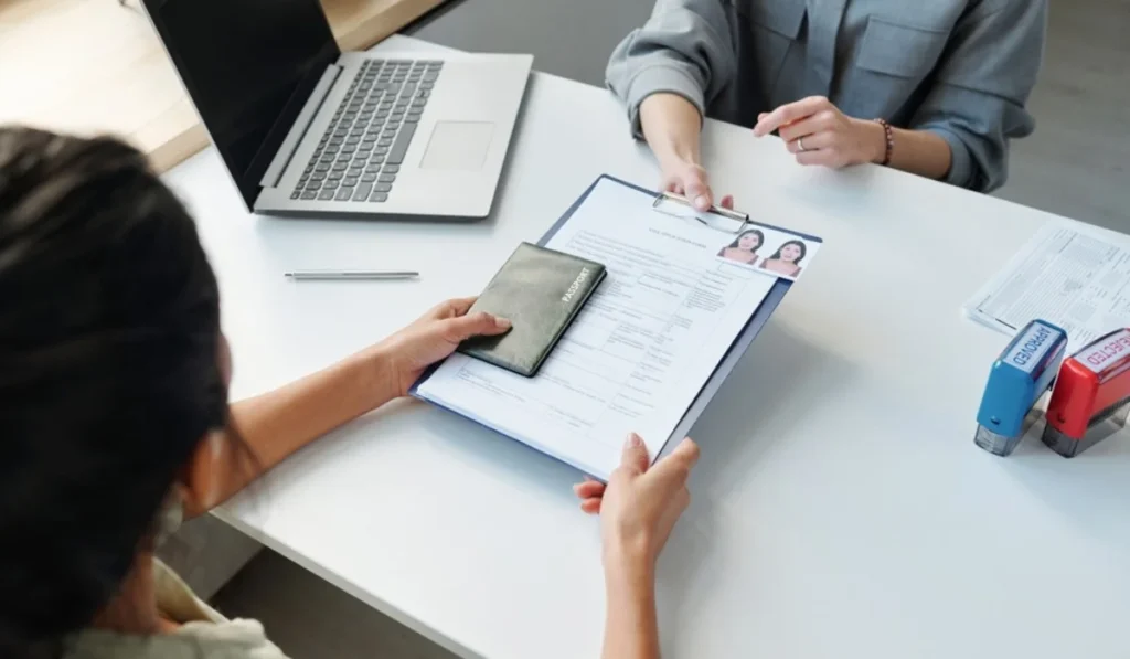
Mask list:
POLYGON ((657 0, 608 85, 664 187, 699 208, 715 201, 706 115, 779 132, 802 165, 879 163, 988 192, 1009 140, 1033 131, 1046 20, 1046 0, 657 0))

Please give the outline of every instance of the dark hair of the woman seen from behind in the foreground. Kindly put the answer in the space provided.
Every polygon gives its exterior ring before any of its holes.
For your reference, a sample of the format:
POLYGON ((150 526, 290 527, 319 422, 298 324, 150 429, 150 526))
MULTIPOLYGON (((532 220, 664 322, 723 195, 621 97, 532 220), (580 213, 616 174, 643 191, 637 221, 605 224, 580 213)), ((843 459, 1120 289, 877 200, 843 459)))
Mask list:
POLYGON ((0 129, 0 656, 59 654, 227 424, 219 293, 133 148, 0 129))

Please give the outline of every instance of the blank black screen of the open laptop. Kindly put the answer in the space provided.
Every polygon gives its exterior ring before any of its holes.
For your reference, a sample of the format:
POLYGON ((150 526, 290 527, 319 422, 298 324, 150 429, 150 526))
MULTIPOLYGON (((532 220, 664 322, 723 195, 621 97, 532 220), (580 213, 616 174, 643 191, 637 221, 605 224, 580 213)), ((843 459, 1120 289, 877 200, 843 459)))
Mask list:
POLYGON ((250 208, 339 51, 319 0, 145 0, 197 112, 250 208))

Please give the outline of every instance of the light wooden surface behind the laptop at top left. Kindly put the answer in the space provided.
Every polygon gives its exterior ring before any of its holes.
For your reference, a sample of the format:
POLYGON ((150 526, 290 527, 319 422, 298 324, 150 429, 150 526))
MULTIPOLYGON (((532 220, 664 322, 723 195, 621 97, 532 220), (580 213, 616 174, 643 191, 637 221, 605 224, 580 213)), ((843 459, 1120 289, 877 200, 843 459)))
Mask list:
MULTIPOLYGON (((440 2, 322 0, 342 50, 368 47, 440 2)), ((139 0, 0 2, 0 124, 112 132, 159 171, 205 148, 208 135, 139 7, 139 0)))

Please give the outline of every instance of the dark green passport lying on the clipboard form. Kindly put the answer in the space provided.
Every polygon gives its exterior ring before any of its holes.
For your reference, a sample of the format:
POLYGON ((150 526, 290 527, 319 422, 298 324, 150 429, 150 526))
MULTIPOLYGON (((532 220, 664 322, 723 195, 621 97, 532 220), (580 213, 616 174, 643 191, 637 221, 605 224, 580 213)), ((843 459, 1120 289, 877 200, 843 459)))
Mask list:
POLYGON ((532 378, 605 275, 594 261, 520 244, 468 312, 508 319, 510 331, 471 338, 459 352, 532 378))

